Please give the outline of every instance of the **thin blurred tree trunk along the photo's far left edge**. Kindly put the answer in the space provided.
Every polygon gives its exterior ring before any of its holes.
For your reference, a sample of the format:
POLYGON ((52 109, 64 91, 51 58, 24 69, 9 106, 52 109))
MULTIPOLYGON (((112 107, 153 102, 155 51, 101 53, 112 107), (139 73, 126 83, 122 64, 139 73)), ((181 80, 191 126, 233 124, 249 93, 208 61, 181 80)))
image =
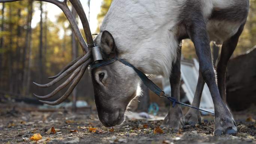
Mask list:
MULTIPOLYGON (((2 22, 1 22, 1 31, 4 31, 4 3, 3 3, 3 6, 2 6, 2 22)), ((1 70, 3 70, 3 65, 2 65, 2 63, 3 63, 3 51, 2 51, 2 49, 3 49, 3 44, 4 44, 4 39, 3 39, 3 36, 1 36, 1 38, 0 38, 0 88, 3 88, 2 87, 2 82, 3 82, 3 80, 2 80, 2 71, 1 70)))

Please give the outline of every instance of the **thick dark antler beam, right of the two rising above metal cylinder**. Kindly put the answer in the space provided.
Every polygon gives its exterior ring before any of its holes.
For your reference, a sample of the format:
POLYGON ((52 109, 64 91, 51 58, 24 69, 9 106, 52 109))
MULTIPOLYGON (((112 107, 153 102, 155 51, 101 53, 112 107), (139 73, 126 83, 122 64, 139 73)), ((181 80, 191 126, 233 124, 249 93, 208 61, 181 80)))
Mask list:
POLYGON ((93 47, 94 46, 94 42, 92 39, 92 34, 90 31, 90 26, 89 26, 89 22, 87 20, 85 11, 83 10, 83 6, 80 2, 80 0, 69 0, 71 2, 71 4, 73 5, 74 9, 76 9, 76 12, 82 22, 83 25, 83 31, 85 32, 85 38, 86 41, 88 43, 89 47, 93 47))

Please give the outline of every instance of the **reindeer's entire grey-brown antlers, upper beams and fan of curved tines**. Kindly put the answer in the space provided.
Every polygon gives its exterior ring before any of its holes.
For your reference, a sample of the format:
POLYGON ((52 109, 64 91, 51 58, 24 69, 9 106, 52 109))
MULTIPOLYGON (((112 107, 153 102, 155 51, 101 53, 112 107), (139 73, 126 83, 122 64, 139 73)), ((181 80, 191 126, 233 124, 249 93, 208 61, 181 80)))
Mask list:
MULTIPOLYGON (((0 3, 13 2, 13 1, 20 1, 20 0, 0 0, 0 3)), ((67 92, 65 92, 65 94, 63 96, 61 96, 59 99, 57 99, 56 101, 50 102, 50 101, 40 100, 41 102, 49 104, 49 105, 57 105, 57 104, 60 104, 61 102, 63 102, 71 94, 71 92, 73 91, 73 89, 75 88, 75 86, 80 81, 83 74, 85 73, 86 68, 92 62, 91 48, 94 47, 94 42, 93 42, 93 39, 92 39, 92 35, 91 35, 88 20, 86 18, 85 12, 83 10, 82 4, 80 3, 79 0, 69 0, 69 1, 71 2, 74 9, 76 10, 79 18, 81 19, 81 22, 82 22, 82 25, 83 25, 83 30, 85 32, 85 37, 86 37, 86 40, 87 40, 88 44, 86 44, 85 39, 83 39, 83 36, 82 36, 82 34, 81 34, 81 32, 78 28, 78 25, 76 23, 76 19, 74 18, 70 9, 67 6, 67 0, 63 0, 63 1, 59 1, 59 0, 36 0, 36 1, 49 2, 49 3, 55 4, 56 6, 60 7, 60 9, 64 12, 65 16, 67 17, 68 21, 70 22, 70 25, 71 25, 71 27, 74 31, 74 34, 76 35, 76 37, 77 37, 77 39, 78 39, 78 41, 79 41, 79 43, 82 47, 82 50, 83 50, 83 56, 79 56, 78 58, 71 61, 56 76, 49 77, 50 79, 54 79, 51 82, 49 82, 45 85, 40 85, 40 84, 37 84, 37 83, 34 82, 35 85, 37 85, 39 87, 42 87, 42 88, 46 88, 46 87, 54 85, 55 83, 59 82, 61 79, 66 77, 68 74, 73 72, 71 74, 71 76, 63 84, 58 86, 58 88, 56 88, 50 94, 45 95, 45 96, 38 96, 38 95, 34 94, 34 96, 36 96, 39 99, 51 98, 52 96, 57 94, 61 89, 63 89, 65 86, 67 86, 73 80, 73 82, 70 85, 70 87, 68 88, 67 92)))

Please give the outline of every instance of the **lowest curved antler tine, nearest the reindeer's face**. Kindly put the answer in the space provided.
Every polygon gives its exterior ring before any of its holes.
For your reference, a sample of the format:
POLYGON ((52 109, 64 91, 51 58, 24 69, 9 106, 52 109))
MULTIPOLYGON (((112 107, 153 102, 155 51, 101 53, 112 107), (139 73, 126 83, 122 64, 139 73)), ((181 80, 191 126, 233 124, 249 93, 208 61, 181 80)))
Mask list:
POLYGON ((79 72, 79 74, 76 76, 76 78, 74 79, 73 83, 71 84, 71 86, 68 88, 67 92, 65 92, 65 94, 63 96, 61 96, 59 99, 57 99, 56 101, 42 101, 39 100, 40 102, 43 102, 45 104, 49 104, 49 105, 58 105, 61 102, 63 102, 65 99, 68 98, 68 96, 71 94, 71 92, 73 91, 73 89, 75 88, 75 86, 77 85, 77 83, 80 81, 80 79, 82 78, 83 74, 85 73, 86 68, 88 67, 88 65, 92 62, 91 59, 88 59, 88 61, 86 61, 83 65, 82 68, 79 72))

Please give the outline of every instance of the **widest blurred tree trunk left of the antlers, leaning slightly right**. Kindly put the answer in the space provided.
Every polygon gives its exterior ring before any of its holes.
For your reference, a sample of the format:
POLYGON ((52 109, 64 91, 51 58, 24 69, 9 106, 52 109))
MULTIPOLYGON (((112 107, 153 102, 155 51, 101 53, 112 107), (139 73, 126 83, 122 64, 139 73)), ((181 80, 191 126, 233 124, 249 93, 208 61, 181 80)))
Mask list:
POLYGON ((27 31, 26 31, 26 40, 25 40, 25 48, 23 52, 23 60, 22 60, 22 68, 23 68, 23 95, 28 94, 27 80, 28 80, 28 61, 30 60, 30 42, 31 42, 31 21, 32 21, 32 13, 33 13, 33 1, 29 1, 28 4, 28 16, 27 16, 27 31), (29 50, 29 52, 28 52, 29 50), (27 53, 28 52, 28 53, 27 53))

